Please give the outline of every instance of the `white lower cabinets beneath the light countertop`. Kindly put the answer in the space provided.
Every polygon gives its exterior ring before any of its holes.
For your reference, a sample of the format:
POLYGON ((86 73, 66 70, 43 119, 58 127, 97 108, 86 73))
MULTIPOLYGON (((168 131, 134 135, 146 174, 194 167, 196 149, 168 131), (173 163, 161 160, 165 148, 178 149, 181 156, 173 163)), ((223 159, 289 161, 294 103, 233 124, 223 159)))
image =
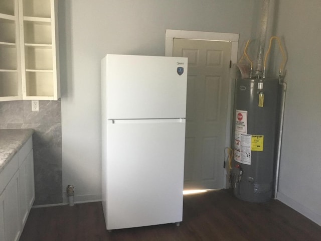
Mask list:
POLYGON ((0 173, 1 241, 19 240, 35 200, 34 186, 31 137, 0 173))

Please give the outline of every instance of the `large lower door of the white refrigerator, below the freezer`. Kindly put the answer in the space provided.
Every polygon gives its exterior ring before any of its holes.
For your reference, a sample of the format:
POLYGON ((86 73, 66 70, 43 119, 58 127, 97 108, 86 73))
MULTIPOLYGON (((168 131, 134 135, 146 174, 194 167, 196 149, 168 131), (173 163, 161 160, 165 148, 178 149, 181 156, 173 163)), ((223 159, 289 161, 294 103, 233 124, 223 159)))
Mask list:
POLYGON ((182 221, 185 123, 107 126, 107 229, 182 221))

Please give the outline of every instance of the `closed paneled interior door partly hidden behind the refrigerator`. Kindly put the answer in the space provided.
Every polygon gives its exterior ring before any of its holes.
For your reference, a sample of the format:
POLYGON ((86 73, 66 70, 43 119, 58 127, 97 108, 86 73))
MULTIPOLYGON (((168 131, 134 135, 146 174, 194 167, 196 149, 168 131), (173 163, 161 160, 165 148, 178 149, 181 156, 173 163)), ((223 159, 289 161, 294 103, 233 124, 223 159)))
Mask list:
POLYGON ((224 188, 231 42, 174 39, 188 57, 184 189, 224 188))

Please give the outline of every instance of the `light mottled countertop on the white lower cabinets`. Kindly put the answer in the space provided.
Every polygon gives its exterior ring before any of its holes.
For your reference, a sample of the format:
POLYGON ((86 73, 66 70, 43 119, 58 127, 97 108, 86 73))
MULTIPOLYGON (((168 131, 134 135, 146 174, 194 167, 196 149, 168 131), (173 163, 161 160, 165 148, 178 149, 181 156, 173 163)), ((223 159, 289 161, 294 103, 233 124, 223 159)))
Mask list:
POLYGON ((0 130, 0 172, 33 135, 33 129, 0 130))

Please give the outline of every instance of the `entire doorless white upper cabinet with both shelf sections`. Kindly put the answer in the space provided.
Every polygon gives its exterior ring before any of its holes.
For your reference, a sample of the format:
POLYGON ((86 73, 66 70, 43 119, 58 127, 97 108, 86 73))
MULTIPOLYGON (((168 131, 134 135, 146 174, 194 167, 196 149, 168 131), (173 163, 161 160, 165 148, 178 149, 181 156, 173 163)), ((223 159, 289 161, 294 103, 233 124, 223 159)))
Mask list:
POLYGON ((11 27, 0 22, 0 44, 11 48, 10 62, 0 57, 0 100, 59 99, 57 1, 2 0, 0 13, 13 19, 11 27))

